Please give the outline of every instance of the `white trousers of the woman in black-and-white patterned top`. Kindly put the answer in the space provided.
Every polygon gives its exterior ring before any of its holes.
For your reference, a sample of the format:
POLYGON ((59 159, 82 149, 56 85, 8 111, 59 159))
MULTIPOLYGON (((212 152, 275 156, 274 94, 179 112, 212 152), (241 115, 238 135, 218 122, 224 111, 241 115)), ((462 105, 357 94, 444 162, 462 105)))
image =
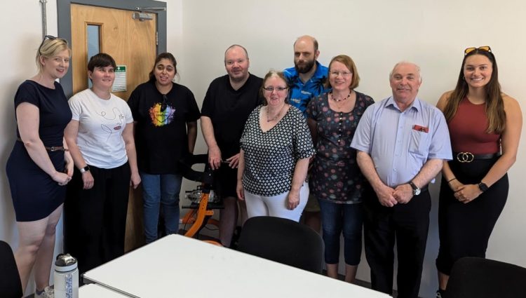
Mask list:
POLYGON ((245 191, 248 218, 256 216, 274 216, 292 219, 299 222, 307 199, 309 198, 309 183, 304 182, 299 189, 299 205, 294 210, 288 210, 288 191, 277 196, 259 196, 245 191))

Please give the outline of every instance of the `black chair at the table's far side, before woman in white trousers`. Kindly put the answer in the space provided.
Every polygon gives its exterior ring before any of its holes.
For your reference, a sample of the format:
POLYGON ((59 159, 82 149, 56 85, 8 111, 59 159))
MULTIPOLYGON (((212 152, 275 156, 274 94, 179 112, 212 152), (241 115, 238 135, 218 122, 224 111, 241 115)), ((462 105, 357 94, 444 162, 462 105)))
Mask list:
POLYGON ((243 225, 238 250, 299 269, 321 273, 323 241, 314 231, 290 219, 252 217, 243 225))

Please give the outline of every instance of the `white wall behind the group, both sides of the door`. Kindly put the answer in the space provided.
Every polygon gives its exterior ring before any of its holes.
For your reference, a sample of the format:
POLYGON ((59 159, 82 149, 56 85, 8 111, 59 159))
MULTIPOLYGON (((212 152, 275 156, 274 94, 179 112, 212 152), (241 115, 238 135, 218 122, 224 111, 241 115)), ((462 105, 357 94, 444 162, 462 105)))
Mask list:
MULTIPOLYGON (((358 90, 375 100, 390 94, 388 74, 396 62, 417 62, 424 76, 419 95, 431 104, 454 87, 464 48, 489 45, 497 56, 504 91, 519 100, 525 115, 524 1, 168 0, 167 6, 168 50, 179 63, 180 83, 194 91, 200 105, 210 81, 225 74, 223 54, 232 43, 248 49, 251 72, 263 76, 270 68, 292 66, 292 43, 297 36, 311 34, 320 43, 319 60, 323 64, 340 53, 353 57, 362 78, 358 90)), ((20 82, 36 72, 34 53, 41 42, 41 11, 38 0, 6 1, 4 11, 9 14, 0 20, 5 31, 0 47, 4 69, 0 73, 0 239, 15 248, 18 237, 4 169, 15 142, 13 97, 20 82)), ((47 11, 48 33, 56 34, 56 1, 48 0, 47 11)), ((522 231, 526 201, 520 196, 526 193, 526 186, 519 179, 526 175, 526 151, 522 148, 509 172, 508 203, 495 227, 487 257, 526 266, 522 253, 526 250, 522 231)), ((205 151, 199 136, 196 153, 205 151)), ((421 297, 433 297, 437 287, 436 190, 432 188, 421 297)), ((363 258, 358 278, 369 280, 368 273, 363 258)))

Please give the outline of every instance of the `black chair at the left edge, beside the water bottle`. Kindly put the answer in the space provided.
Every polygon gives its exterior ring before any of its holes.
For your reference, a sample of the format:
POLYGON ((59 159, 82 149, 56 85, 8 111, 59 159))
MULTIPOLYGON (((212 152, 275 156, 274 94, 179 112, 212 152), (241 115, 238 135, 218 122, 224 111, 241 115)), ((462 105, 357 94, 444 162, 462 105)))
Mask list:
POLYGON ((20 298, 22 294, 22 283, 13 250, 8 243, 0 240, 0 296, 20 298))

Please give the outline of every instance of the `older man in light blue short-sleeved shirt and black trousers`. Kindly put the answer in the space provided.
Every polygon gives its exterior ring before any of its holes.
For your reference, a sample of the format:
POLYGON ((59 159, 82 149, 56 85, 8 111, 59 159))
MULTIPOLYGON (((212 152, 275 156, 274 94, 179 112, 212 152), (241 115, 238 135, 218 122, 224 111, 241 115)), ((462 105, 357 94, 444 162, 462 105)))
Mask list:
POLYGON ((374 190, 364 204, 372 288, 392 294, 396 238, 398 297, 417 298, 431 209, 427 185, 452 158, 450 136, 442 112, 417 98, 417 65, 398 63, 389 81, 393 96, 367 108, 351 147, 374 190))

